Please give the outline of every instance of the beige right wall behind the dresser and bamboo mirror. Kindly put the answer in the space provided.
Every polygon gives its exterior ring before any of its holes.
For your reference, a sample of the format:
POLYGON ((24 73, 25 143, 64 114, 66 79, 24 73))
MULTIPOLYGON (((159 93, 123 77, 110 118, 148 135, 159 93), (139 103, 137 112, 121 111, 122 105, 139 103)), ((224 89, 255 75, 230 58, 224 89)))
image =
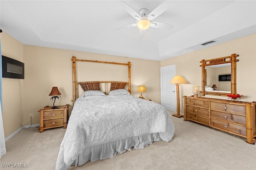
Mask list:
MULTIPOLYGON (((188 85, 180 85, 182 96, 192 95, 192 85, 201 86, 202 59, 213 59, 229 56, 232 53, 239 55, 236 63, 236 91, 242 97, 242 101, 256 101, 256 34, 239 38, 230 42, 222 43, 178 57, 173 57, 160 62, 162 67, 176 65, 176 75, 181 75, 188 82, 188 85)), ((206 95, 206 97, 227 99, 227 97, 206 95)), ((182 98, 181 98, 182 99, 182 98)), ((183 113, 183 100, 180 102, 183 113)))

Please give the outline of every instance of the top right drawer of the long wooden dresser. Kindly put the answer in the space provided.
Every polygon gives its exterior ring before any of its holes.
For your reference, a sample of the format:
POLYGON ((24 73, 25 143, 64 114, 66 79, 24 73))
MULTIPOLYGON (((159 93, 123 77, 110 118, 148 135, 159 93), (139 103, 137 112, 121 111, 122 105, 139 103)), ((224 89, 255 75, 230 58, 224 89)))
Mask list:
POLYGON ((245 106, 210 102, 211 109, 245 115, 245 106))

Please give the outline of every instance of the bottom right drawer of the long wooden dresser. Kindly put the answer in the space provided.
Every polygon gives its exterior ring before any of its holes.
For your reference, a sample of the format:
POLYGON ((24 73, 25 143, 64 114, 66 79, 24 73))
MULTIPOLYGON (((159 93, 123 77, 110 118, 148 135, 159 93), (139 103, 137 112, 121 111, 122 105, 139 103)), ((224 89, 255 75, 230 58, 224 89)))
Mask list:
POLYGON ((235 132, 238 134, 242 134, 246 136, 246 127, 240 126, 240 125, 235 125, 232 123, 224 122, 224 121, 219 121, 216 119, 211 119, 211 125, 214 127, 218 127, 224 130, 228 130, 230 132, 235 132))

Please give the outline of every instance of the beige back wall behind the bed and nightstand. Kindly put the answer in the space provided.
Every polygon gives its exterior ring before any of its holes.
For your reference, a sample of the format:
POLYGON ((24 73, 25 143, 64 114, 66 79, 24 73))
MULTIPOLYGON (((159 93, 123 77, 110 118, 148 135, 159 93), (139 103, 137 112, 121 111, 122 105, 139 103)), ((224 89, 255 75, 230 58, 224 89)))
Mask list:
MULTIPOLYGON (((132 95, 138 97, 136 87, 145 85, 144 97, 160 103, 160 61, 24 45, 26 95, 24 95, 23 110, 26 118, 29 118, 31 113, 34 115, 33 124, 39 123, 38 110, 46 105, 52 106, 49 93, 53 86, 57 86, 62 94, 55 105, 72 105, 72 56, 76 56, 77 59, 117 63, 130 61, 132 95)), ((128 67, 77 62, 77 75, 78 81, 128 81, 128 67)), ((29 119, 24 119, 24 122, 27 125, 30 123, 29 119)))

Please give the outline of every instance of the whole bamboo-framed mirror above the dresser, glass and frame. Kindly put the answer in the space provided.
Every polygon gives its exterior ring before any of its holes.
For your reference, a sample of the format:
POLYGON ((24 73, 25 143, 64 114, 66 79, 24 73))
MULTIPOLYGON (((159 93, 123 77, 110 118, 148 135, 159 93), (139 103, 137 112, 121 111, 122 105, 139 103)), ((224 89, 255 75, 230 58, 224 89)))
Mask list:
POLYGON ((202 96, 236 94, 236 59, 238 55, 202 60, 202 96))

